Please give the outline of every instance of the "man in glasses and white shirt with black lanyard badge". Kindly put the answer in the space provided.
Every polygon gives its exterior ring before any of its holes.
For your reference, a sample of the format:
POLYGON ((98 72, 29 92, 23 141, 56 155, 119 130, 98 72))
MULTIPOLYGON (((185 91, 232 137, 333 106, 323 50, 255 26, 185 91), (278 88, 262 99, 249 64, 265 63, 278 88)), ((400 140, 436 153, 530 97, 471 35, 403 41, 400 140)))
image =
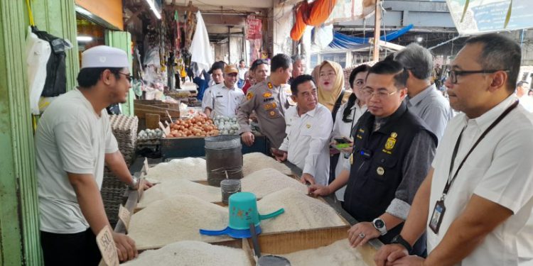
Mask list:
POLYGON ((520 251, 533 241, 533 230, 523 230, 533 209, 533 117, 513 94, 520 60, 519 45, 503 35, 466 40, 446 79, 450 104, 463 113, 448 123, 402 232, 375 256, 378 266, 532 265, 532 251, 520 251), (408 256, 426 229, 428 257, 408 256))

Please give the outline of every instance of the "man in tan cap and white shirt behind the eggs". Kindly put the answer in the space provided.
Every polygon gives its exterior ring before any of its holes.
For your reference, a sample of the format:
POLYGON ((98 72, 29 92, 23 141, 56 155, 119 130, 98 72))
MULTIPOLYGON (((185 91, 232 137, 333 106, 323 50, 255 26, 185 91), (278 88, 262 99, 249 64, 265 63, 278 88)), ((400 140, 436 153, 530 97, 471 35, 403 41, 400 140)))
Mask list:
POLYGON ((244 99, 244 92, 237 88, 237 74, 239 70, 234 65, 227 65, 224 68, 224 82, 210 87, 209 92, 204 95, 206 115, 215 116, 237 116, 237 107, 244 99))

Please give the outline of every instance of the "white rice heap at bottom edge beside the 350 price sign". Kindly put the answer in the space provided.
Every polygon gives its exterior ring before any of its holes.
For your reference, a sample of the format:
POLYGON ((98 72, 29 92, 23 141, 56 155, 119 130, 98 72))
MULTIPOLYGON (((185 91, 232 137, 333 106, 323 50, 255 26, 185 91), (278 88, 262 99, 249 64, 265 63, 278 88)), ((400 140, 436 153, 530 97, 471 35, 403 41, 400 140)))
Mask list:
POLYGON ((200 241, 179 241, 146 250, 124 266, 252 266, 244 250, 200 241))

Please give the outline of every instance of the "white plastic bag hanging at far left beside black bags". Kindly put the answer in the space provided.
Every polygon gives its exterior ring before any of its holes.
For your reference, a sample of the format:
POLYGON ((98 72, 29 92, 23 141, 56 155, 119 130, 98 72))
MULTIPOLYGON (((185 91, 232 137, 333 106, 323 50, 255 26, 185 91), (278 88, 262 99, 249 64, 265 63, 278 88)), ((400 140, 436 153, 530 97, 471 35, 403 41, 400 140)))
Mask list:
POLYGON ((39 99, 46 81, 46 63, 50 58, 50 43, 41 40, 28 27, 26 36, 26 64, 28 65, 28 83, 30 90, 31 113, 38 115, 39 99))

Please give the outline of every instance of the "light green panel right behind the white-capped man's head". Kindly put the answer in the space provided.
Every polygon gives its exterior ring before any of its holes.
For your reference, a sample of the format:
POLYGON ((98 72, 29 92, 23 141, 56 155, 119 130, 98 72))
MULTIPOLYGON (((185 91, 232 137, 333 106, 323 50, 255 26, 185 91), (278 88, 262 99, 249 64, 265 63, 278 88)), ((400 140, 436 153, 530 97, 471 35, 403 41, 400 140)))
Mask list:
MULTIPOLYGON (((127 31, 105 31, 105 44, 126 51, 129 71, 131 72, 131 60, 133 60, 133 55, 131 55, 131 34, 127 31)), ((129 89, 128 101, 126 104, 121 104, 124 115, 134 116, 134 99, 133 89, 129 89)))

